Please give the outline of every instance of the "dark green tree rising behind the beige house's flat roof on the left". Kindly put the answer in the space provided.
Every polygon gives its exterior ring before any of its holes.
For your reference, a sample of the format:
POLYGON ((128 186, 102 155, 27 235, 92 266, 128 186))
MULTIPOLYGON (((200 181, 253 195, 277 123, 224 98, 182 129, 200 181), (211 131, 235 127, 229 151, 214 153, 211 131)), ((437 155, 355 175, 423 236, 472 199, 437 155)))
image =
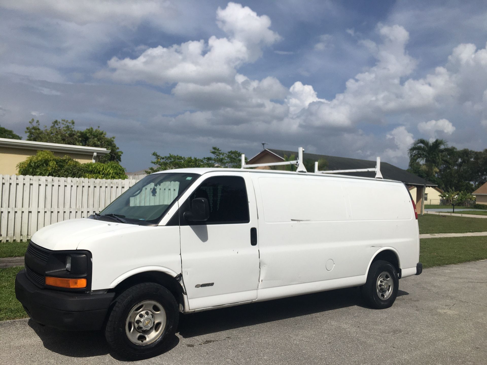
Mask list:
POLYGON ((120 162, 122 159, 123 152, 115 144, 115 137, 107 137, 107 132, 100 127, 77 130, 74 120, 61 119, 61 121, 53 121, 50 127, 41 128, 38 120, 31 119, 25 132, 27 141, 107 148, 110 153, 99 158, 98 161, 101 163, 120 162))

